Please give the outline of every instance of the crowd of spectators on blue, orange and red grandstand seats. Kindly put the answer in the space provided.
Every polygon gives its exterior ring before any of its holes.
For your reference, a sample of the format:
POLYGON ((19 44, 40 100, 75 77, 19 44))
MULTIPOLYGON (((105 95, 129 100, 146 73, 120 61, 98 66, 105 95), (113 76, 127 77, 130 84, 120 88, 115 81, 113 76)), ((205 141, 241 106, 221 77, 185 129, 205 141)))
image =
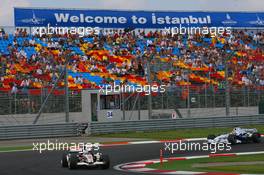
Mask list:
MULTIPOLYGON (((99 35, 30 35, 17 28, 0 30, 0 88, 17 89, 64 86, 64 65, 72 73, 88 72, 102 83, 158 83, 217 86, 228 65, 234 86, 264 86, 264 32, 234 30, 230 35, 171 35, 162 30, 103 30, 99 35), (232 56, 230 56, 232 54, 232 56), (153 71, 148 75, 147 65, 153 71), (169 69, 155 69, 159 65, 169 69), (188 74, 186 73, 188 71, 188 74)), ((74 74, 71 74, 74 75, 74 74)), ((82 75, 69 76, 71 88, 97 88, 82 75)))

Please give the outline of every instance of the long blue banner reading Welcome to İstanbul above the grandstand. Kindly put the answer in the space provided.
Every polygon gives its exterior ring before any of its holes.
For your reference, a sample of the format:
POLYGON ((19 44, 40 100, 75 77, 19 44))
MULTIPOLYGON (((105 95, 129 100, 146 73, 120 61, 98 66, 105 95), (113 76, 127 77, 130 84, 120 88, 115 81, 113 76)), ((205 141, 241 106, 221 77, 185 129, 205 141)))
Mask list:
POLYGON ((264 12, 165 12, 14 8, 15 26, 102 28, 264 27, 264 12))

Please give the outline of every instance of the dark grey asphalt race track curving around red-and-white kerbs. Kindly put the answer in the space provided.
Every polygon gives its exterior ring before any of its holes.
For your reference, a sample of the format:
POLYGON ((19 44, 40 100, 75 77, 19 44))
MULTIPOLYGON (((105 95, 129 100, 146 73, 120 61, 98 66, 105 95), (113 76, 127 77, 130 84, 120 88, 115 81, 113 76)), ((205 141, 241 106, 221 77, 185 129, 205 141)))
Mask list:
MULTIPOLYGON (((102 152, 108 154, 111 159, 111 168, 100 170, 94 168, 81 168, 69 170, 60 165, 61 151, 46 151, 39 153, 36 151, 23 151, 12 153, 0 153, 0 175, 126 175, 135 174, 121 172, 113 169, 113 166, 132 161, 159 158, 160 149, 164 148, 164 143, 123 145, 104 147, 102 152)), ((264 151, 264 143, 234 145, 232 152, 253 152, 264 151)), ((169 156, 193 156, 207 155, 209 152, 203 151, 178 151, 169 156)), ((168 156, 168 154, 166 154, 168 156)))

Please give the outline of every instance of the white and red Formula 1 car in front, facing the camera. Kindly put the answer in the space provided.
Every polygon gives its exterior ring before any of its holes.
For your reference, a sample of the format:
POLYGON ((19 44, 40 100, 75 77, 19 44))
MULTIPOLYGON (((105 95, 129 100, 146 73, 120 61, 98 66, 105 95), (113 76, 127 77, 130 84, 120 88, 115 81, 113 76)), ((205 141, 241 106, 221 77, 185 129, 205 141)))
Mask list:
POLYGON ((108 155, 96 152, 93 147, 83 146, 82 148, 74 148, 64 152, 61 165, 69 169, 76 169, 81 166, 108 169, 110 167, 110 159, 108 155))

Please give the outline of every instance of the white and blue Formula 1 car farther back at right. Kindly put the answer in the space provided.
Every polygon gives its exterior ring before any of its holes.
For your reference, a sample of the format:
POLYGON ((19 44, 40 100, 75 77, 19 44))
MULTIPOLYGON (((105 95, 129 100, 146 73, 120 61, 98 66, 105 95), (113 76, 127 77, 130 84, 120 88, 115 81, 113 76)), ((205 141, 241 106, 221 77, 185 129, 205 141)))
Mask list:
POLYGON ((217 143, 231 143, 232 145, 238 143, 249 143, 261 142, 261 134, 258 133, 257 129, 246 129, 246 128, 239 128, 236 127, 233 131, 229 134, 222 134, 222 135, 209 135, 207 137, 208 144, 217 144, 217 143))

